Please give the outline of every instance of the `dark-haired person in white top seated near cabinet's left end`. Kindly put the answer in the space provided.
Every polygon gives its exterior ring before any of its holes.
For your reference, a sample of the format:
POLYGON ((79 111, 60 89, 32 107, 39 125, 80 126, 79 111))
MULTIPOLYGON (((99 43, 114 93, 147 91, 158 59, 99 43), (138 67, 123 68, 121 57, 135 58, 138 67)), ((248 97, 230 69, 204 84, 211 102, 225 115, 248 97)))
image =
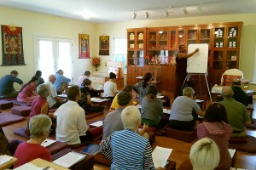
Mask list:
POLYGON ((117 94, 116 75, 113 72, 109 73, 109 81, 104 83, 103 98, 112 99, 117 94))

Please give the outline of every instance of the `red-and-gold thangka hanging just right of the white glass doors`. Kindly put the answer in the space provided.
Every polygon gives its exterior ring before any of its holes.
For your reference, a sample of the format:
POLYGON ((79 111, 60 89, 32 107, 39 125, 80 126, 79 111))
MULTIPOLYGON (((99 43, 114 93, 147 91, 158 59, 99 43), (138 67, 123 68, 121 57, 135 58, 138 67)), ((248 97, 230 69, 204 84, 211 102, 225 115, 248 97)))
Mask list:
POLYGON ((90 43, 87 34, 79 34, 79 59, 90 59, 90 43))

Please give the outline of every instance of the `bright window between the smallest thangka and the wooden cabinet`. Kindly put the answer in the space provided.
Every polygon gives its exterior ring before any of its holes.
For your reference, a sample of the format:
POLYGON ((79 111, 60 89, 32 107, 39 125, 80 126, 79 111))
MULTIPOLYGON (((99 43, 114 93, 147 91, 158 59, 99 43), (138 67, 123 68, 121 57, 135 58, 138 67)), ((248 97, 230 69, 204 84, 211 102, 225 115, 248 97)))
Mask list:
POLYGON ((127 38, 126 37, 114 37, 113 38, 113 61, 123 61, 125 68, 124 73, 127 72, 127 38))

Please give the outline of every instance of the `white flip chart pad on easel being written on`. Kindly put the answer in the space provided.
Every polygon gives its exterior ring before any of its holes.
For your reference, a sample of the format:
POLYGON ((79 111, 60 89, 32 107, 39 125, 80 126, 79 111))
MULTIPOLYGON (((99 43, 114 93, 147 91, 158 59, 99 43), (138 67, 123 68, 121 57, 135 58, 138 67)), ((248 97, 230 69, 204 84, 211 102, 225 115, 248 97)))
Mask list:
POLYGON ((189 44, 188 54, 193 53, 196 48, 199 52, 188 58, 187 72, 188 73, 207 73, 208 63, 208 44, 189 44))

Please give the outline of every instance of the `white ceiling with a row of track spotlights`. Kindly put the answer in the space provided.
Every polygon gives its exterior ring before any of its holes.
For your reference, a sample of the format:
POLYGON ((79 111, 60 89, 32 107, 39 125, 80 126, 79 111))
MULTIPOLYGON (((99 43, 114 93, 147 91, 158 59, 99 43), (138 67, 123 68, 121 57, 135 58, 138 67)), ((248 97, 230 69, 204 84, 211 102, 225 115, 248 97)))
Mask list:
POLYGON ((96 23, 131 21, 133 11, 137 13, 134 20, 256 13, 256 0, 0 0, 0 5, 96 23))

